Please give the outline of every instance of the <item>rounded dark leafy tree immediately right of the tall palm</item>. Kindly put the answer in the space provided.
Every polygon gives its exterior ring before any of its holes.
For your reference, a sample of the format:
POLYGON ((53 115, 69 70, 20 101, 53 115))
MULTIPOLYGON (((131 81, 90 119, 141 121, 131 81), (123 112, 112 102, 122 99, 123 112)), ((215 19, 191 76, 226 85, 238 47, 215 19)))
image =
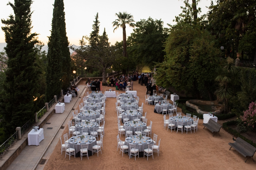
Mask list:
POLYGON ((168 29, 163 27, 163 21, 148 18, 135 24, 136 28, 128 37, 130 46, 128 54, 135 57, 136 63, 145 63, 150 69, 155 62, 163 62, 165 52, 164 42, 168 37, 168 29))

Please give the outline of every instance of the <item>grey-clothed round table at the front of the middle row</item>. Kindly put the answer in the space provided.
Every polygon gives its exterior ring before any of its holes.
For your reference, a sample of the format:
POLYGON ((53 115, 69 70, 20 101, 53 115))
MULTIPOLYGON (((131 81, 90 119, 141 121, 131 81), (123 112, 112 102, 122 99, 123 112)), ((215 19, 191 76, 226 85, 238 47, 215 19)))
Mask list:
POLYGON ((132 143, 132 144, 137 143, 137 144, 135 144, 135 148, 139 150, 139 157, 143 157, 144 156, 144 149, 147 149, 148 145, 154 144, 154 142, 149 137, 143 136, 144 139, 141 139, 141 140, 139 140, 139 138, 137 138, 137 137, 138 137, 137 135, 127 137, 125 139, 124 145, 128 146, 128 151, 129 151, 128 155, 130 156, 130 145, 129 145, 129 143, 132 143), (145 140, 145 138, 147 138, 147 140, 145 140), (135 141, 135 142, 133 142, 133 141, 135 141), (138 142, 143 142, 143 141, 146 141, 146 144, 138 143, 138 142))

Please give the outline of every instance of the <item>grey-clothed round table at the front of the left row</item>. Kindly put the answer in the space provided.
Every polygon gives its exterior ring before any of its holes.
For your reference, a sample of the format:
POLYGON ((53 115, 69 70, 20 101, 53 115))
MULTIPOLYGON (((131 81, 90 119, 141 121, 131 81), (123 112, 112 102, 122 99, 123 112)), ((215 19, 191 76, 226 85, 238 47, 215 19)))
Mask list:
MULTIPOLYGON (((79 135, 77 136, 77 137, 79 137, 79 135)), ((70 148, 74 148, 75 149, 75 157, 79 157, 80 158, 80 149, 82 149, 82 147, 81 147, 81 143, 79 143, 80 141, 81 141, 81 139, 80 138, 77 138, 76 136, 74 136, 74 137, 72 137, 72 138, 70 138, 69 139, 69 147, 70 148), (73 141, 73 139, 76 139, 77 141, 76 142, 74 142, 73 141), (70 140, 72 140, 72 141, 70 141, 70 140)), ((83 144, 88 144, 88 156, 91 156, 91 155, 93 155, 93 149, 92 149, 92 147, 94 146, 94 145, 97 145, 97 142, 96 142, 96 138, 95 139, 91 139, 91 140, 88 140, 91 136, 90 135, 85 135, 85 137, 87 137, 87 138, 84 138, 83 140, 84 141, 88 141, 88 142, 86 142, 86 143, 83 143, 83 144), (90 141, 90 142, 89 142, 90 141)), ((94 138, 94 137, 93 137, 94 138)))

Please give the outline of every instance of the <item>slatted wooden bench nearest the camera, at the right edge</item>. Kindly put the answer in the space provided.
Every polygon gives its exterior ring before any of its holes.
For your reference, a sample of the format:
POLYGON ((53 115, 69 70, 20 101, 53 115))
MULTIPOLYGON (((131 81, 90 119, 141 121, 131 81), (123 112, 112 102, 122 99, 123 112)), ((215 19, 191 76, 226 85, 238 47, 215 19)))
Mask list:
MULTIPOLYGON (((242 154, 244 157, 253 159, 253 155, 256 152, 256 148, 250 145, 249 143, 245 142, 241 138, 237 138, 234 143, 229 143, 231 146, 230 149, 233 147, 235 150, 237 150, 240 154, 242 154)), ((229 150, 230 150, 229 149, 229 150)), ((247 160, 246 159, 246 160, 247 160)), ((245 162, 246 162, 245 160, 245 162)), ((254 160, 253 160, 254 162, 254 160)))

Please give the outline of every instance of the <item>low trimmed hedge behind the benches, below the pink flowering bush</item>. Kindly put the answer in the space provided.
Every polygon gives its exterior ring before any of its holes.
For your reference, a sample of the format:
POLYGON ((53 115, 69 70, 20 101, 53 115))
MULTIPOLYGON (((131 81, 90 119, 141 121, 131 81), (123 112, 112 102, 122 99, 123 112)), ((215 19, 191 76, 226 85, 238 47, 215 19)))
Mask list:
POLYGON ((253 143, 253 141, 247 139, 246 137, 241 135, 238 131, 236 131, 232 128, 229 128, 229 126, 235 125, 237 123, 238 123, 238 121, 234 121, 234 120, 228 121, 228 122, 225 122, 225 123, 222 124, 222 128, 224 130, 226 130, 228 133, 230 133, 231 135, 233 135, 234 137, 236 137, 236 138, 239 137, 239 138, 243 139, 244 141, 250 143, 252 146, 256 147, 256 143, 253 143))

